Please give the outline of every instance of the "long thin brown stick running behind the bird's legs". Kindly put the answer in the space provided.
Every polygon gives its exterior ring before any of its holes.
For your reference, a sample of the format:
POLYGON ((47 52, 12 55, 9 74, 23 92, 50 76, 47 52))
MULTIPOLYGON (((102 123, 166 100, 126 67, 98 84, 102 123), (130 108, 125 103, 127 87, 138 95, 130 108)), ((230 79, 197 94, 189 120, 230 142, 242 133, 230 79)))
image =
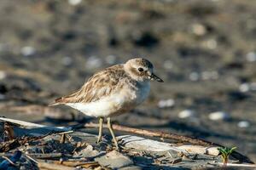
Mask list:
MULTIPOLYGON (((97 128, 97 127, 99 127, 99 125, 97 123, 89 122, 89 123, 85 123, 83 126, 78 126, 77 128, 79 128, 79 127, 97 128)), ((108 125, 104 123, 103 127, 108 128, 108 125)), ((150 131, 150 130, 144 130, 144 129, 134 128, 134 127, 125 127, 125 126, 121 126, 121 125, 117 125, 117 124, 113 124, 112 127, 113 127, 113 130, 118 130, 118 131, 125 132, 125 133, 136 133, 136 134, 140 134, 143 136, 159 137, 159 138, 165 138, 165 139, 175 139, 179 142, 189 143, 189 144, 199 144, 202 146, 224 147, 221 144, 209 142, 204 139, 195 139, 195 138, 191 138, 191 137, 187 137, 187 136, 178 135, 175 133, 163 133, 163 132, 157 132, 157 131, 150 131)), ((74 128, 76 128, 76 127, 74 127, 74 128)), ((234 151, 231 154, 231 156, 233 156, 234 158, 236 158, 237 160, 239 160, 241 162, 253 163, 253 161, 251 161, 247 156, 243 156, 237 151, 234 151)))

